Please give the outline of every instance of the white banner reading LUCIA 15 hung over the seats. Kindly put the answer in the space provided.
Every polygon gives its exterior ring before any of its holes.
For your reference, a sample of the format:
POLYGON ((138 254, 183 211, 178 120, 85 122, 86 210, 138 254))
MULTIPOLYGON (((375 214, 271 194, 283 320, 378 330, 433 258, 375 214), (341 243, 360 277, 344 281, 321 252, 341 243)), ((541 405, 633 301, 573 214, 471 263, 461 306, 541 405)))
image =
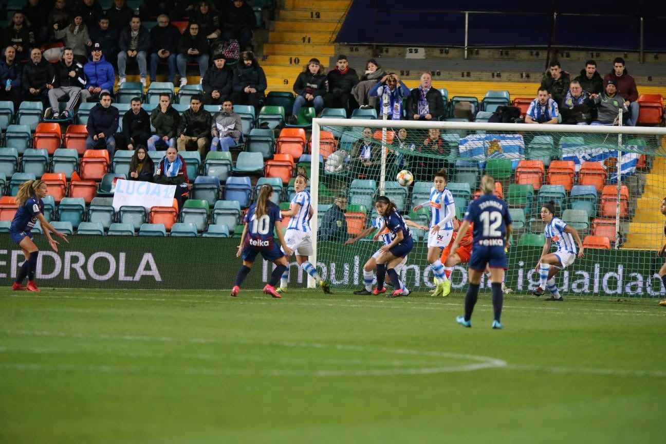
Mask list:
POLYGON ((115 182, 113 209, 118 211, 123 205, 143 206, 146 210, 153 206, 172 206, 174 192, 175 185, 119 179, 115 182))

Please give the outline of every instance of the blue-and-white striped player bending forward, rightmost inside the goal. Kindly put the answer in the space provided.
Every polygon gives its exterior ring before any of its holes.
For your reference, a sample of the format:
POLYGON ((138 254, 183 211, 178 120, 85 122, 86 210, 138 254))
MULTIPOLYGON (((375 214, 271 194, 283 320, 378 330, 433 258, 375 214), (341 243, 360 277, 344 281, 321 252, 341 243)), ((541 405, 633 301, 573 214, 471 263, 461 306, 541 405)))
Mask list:
POLYGON ((562 296, 555 286, 555 279, 553 276, 559 270, 563 270, 569 265, 573 264, 576 258, 576 246, 573 241, 578 244, 578 257, 583 258, 583 242, 581 236, 572 226, 567 225, 561 219, 555 217, 555 202, 552 200, 541 207, 541 220, 546 223, 543 234, 545 235, 545 245, 541 258, 537 262, 535 270, 539 272, 539 288, 533 291, 535 296, 541 296, 548 288, 553 294, 547 301, 562 301, 562 296), (557 244, 557 251, 549 253, 552 242, 557 244))

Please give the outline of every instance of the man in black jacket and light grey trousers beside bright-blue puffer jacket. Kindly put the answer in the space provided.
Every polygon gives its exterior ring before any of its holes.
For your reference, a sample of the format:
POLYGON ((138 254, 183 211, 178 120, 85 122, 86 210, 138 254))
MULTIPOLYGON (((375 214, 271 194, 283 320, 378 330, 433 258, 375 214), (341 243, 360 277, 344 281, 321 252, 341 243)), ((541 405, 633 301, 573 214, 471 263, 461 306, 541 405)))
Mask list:
POLYGON ((63 51, 63 58, 55 65, 54 71, 55 84, 53 89, 49 89, 49 108, 44 112, 44 117, 53 120, 70 118, 74 115, 74 108, 79 105, 81 89, 86 83, 83 65, 75 61, 74 52, 67 47, 63 51), (61 114, 58 102, 63 99, 68 101, 67 107, 61 114))

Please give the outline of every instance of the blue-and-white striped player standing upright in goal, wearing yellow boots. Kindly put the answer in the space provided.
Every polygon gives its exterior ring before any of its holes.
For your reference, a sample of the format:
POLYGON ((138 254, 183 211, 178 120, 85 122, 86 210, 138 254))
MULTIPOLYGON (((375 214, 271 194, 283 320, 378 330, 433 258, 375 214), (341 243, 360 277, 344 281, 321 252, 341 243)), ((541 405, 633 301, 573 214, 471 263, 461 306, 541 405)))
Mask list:
POLYGON ((437 280, 434 296, 448 296, 451 292, 451 281, 444 273, 444 265, 440 260, 442 250, 449 244, 453 232, 453 220, 456 217, 454 196, 446 188, 446 168, 435 173, 434 186, 430 188, 430 200, 414 207, 414 212, 424 206, 430 206, 430 232, 428 232, 428 264, 437 280))

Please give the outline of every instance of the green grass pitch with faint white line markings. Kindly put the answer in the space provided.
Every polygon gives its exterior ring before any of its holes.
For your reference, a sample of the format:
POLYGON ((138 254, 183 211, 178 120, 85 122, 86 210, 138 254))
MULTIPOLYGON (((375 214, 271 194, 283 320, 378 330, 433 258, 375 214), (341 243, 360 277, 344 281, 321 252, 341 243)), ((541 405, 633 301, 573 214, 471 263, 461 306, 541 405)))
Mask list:
POLYGON ((657 443, 656 300, 0 290, 0 443, 657 443))

